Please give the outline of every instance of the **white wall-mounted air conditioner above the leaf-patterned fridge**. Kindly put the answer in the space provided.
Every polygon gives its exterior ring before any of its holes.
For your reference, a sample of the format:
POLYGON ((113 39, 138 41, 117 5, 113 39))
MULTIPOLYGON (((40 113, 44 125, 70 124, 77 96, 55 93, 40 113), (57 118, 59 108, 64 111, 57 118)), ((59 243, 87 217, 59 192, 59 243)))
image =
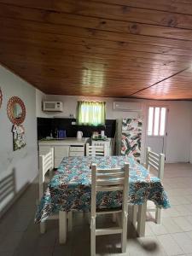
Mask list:
POLYGON ((142 111, 140 102, 113 102, 113 110, 116 111, 142 111))

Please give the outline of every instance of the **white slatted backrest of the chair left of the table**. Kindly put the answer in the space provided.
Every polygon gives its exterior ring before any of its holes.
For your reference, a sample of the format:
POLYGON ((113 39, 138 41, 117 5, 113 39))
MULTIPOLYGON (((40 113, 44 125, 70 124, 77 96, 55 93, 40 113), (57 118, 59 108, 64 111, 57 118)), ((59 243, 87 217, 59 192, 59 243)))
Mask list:
POLYGON ((54 168, 54 148, 39 155, 39 199, 44 195, 44 177, 54 168))

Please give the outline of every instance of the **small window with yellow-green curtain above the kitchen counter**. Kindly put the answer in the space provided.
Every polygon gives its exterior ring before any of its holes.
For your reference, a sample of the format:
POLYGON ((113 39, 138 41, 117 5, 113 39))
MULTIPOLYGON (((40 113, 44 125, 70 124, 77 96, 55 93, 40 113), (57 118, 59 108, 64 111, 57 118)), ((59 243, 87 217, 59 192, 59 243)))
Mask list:
POLYGON ((78 125, 105 125, 105 102, 78 102, 78 125))

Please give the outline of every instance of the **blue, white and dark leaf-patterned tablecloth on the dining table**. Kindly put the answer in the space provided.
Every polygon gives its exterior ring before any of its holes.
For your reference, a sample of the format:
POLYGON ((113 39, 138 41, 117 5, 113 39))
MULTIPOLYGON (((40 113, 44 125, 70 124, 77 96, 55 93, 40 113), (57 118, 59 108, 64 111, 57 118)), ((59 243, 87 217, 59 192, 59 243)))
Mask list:
MULTIPOLYGON (((166 191, 158 177, 153 177, 133 157, 127 156, 84 156, 65 157, 55 176, 51 179, 36 212, 39 223, 58 211, 90 211, 91 164, 98 168, 112 168, 130 164, 129 202, 136 205, 154 201, 160 208, 170 207, 166 191)), ((121 207, 120 191, 97 192, 97 208, 121 207)))

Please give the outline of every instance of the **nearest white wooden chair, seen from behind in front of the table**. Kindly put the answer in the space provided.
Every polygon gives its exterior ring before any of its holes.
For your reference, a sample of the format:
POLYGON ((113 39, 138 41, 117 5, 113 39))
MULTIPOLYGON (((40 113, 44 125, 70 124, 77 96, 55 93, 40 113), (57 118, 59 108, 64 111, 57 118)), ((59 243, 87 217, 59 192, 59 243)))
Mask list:
MULTIPOLYGON (((96 164, 91 166, 91 210, 90 210, 90 255, 96 255, 96 236, 121 234, 122 253, 126 251, 127 215, 129 191, 129 165, 123 168, 97 169, 96 164), (121 209, 96 210, 96 192, 122 190, 123 201, 121 209), (96 215, 121 213, 117 227, 96 229, 96 215)), ((119 215, 118 215, 119 216, 119 215)), ((119 218, 118 218, 119 219, 119 218)))

